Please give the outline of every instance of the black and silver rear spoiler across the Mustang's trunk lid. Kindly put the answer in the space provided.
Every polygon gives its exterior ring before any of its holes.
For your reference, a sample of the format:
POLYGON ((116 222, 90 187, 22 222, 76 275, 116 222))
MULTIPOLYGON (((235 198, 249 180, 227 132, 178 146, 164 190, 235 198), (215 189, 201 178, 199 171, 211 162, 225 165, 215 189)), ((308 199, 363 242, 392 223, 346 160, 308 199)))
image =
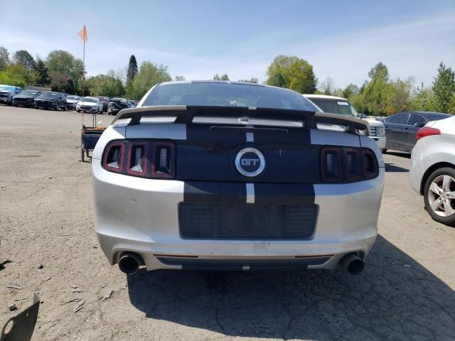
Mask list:
POLYGON ((173 123, 193 123, 195 117, 223 117, 239 119, 239 124, 246 119, 270 119, 277 121, 301 121, 302 127, 318 129, 317 124, 333 124, 348 126, 347 132, 358 134, 366 131, 370 134, 368 121, 357 117, 324 112, 309 112, 305 110, 272 109, 257 107, 203 107, 189 105, 161 105, 152 107, 137 107, 121 110, 112 121, 129 119, 128 126, 141 124, 142 117, 176 117, 173 123))

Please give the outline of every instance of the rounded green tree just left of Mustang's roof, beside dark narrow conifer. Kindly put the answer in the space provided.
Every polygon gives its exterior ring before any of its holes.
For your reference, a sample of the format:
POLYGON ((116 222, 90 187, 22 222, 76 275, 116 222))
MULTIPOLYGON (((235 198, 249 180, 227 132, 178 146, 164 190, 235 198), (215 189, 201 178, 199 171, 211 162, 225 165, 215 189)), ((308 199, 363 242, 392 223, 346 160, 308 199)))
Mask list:
POLYGON ((168 73, 167 66, 163 64, 156 65, 149 61, 143 62, 134 80, 127 85, 127 97, 140 99, 156 83, 168 82, 170 80, 172 78, 168 73))

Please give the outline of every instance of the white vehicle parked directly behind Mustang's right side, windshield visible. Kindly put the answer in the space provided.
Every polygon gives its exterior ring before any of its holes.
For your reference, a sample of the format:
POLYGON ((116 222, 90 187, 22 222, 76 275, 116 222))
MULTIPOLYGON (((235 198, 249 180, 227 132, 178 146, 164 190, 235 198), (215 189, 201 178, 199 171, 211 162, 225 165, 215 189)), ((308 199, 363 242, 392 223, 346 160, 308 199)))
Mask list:
MULTIPOLYGON (((331 112, 352 117, 360 117, 348 99, 343 97, 328 96, 325 94, 304 94, 304 97, 313 102, 321 112, 331 112)), ((376 119, 367 119, 370 126, 370 138, 376 141, 380 149, 385 146, 385 129, 382 122, 376 119)))

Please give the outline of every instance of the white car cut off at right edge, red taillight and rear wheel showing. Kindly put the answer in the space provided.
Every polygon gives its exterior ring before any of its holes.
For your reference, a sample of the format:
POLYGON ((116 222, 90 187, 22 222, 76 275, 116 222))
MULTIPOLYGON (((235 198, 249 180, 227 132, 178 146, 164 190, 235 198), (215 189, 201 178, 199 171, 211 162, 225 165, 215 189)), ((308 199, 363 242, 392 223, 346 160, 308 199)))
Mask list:
POLYGON ((455 116, 430 121, 417 131, 410 180, 437 222, 455 226, 455 116))

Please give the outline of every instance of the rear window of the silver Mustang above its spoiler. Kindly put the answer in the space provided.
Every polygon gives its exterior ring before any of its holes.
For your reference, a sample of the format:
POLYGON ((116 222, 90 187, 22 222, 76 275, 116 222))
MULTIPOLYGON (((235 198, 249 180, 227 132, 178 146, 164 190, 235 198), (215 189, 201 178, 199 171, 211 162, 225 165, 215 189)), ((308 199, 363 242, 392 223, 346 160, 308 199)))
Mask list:
POLYGON ((275 87, 223 82, 159 85, 154 88, 142 105, 262 107, 316 111, 314 105, 297 92, 275 87))

